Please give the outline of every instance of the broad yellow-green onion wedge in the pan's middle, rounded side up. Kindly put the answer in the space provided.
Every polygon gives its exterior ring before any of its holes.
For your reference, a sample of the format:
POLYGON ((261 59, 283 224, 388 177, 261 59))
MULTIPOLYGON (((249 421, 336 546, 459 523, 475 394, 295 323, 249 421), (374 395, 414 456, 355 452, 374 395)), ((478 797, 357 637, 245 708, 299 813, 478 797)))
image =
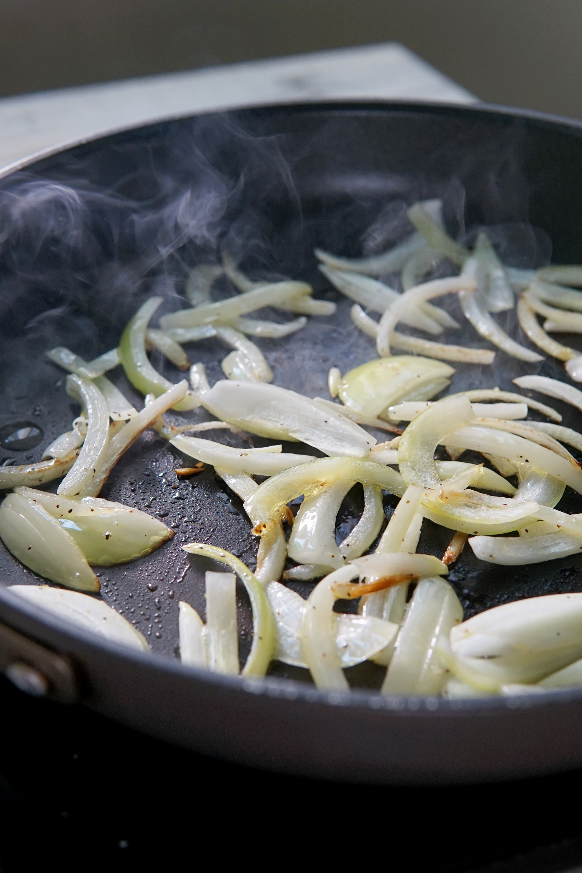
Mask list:
MULTIPOLYGON (((377 358, 350 370, 339 382, 339 399, 360 416, 383 416, 413 391, 448 380, 455 370, 429 358, 400 355, 377 358)), ((448 382, 447 382, 448 384, 448 382)))

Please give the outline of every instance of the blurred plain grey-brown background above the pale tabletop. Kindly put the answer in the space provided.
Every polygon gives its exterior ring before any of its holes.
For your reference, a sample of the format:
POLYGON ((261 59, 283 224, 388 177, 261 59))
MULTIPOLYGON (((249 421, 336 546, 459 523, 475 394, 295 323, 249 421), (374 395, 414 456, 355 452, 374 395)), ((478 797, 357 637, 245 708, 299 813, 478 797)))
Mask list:
POLYGON ((582 0, 0 0, 0 96, 386 40, 582 118, 582 0))

